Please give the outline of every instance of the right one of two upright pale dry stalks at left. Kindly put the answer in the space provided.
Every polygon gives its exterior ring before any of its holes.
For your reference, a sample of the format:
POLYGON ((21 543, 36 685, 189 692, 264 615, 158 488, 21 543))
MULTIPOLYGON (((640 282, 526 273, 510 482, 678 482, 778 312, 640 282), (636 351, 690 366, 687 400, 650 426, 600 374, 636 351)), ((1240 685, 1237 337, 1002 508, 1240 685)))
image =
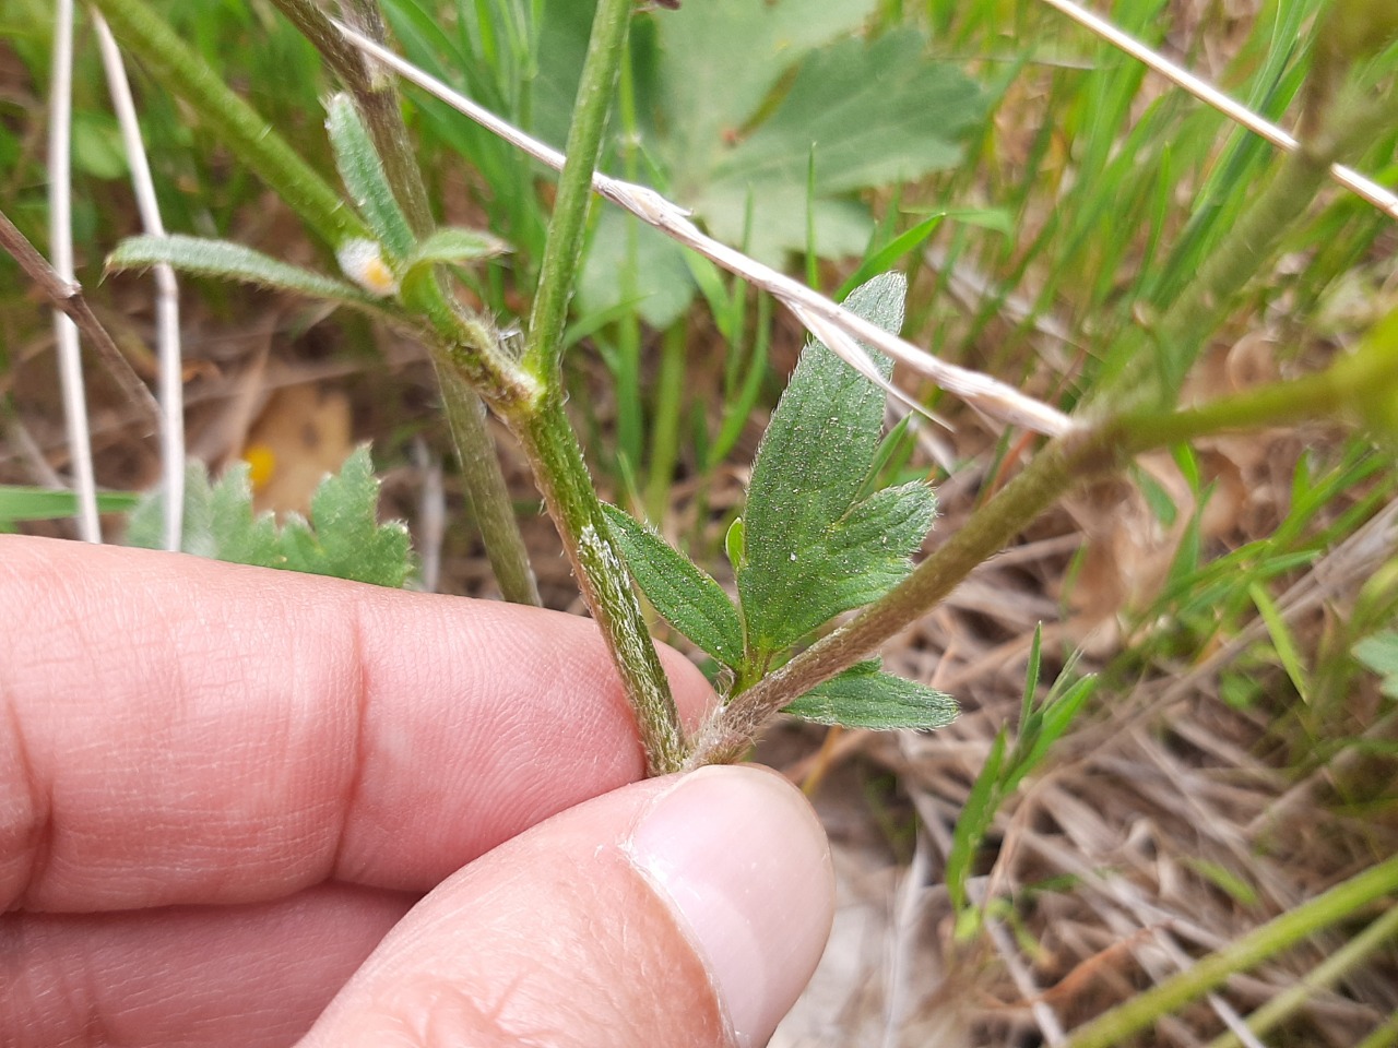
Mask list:
MULTIPOLYGON (((141 127, 136 119, 136 102, 131 98, 131 84, 126 77, 126 64, 116 46, 116 38, 106 20, 92 11, 98 43, 102 50, 102 64, 106 67, 108 89, 112 94, 112 108, 122 129, 122 144, 126 148, 127 163, 131 168, 131 190, 141 214, 141 225, 152 236, 165 235, 161 221, 161 205, 155 198, 155 182, 151 179, 151 165, 141 143, 141 127)), ((185 379, 179 335, 179 284, 175 270, 159 263, 155 271, 155 345, 159 361, 159 412, 161 412, 161 470, 165 490, 165 548, 179 551, 185 528, 185 379)), ((144 390, 145 387, 141 386, 144 390)))

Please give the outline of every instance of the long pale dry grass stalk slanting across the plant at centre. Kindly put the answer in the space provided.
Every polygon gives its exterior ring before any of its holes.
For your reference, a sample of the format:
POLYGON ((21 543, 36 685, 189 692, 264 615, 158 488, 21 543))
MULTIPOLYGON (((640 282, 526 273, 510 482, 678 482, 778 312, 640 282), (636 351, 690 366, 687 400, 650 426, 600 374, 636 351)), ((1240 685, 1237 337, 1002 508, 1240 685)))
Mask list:
MULTIPOLYGON (((488 131, 498 134, 541 163, 555 170, 562 169, 563 154, 558 150, 531 138, 513 124, 506 123, 460 92, 453 91, 436 77, 422 71, 343 22, 336 22, 336 27, 345 35, 345 39, 394 70, 404 80, 417 84, 424 91, 442 99, 457 112, 471 117, 488 131)), ((857 340, 865 345, 875 347, 991 418, 1047 436, 1061 436, 1075 428, 1072 419, 1057 408, 1026 397, 1012 386, 991 379, 988 374, 938 361, 925 349, 918 349, 911 342, 884 331, 877 324, 871 324, 863 317, 850 313, 819 292, 773 270, 770 265, 763 265, 741 252, 706 236, 689 221, 689 211, 665 200, 653 189, 594 172, 593 190, 721 268, 756 284, 790 309, 807 327, 811 326, 812 320, 819 323, 822 330, 828 330, 825 326, 833 326, 843 331, 849 340, 857 340)), ((821 333, 814 334, 818 338, 821 337, 821 333)), ((846 355, 850 342, 836 341, 840 344, 830 345, 830 349, 842 354, 851 366, 864 370, 864 367, 860 367, 856 361, 846 355)), ((907 400, 906 397, 900 398, 907 400)))

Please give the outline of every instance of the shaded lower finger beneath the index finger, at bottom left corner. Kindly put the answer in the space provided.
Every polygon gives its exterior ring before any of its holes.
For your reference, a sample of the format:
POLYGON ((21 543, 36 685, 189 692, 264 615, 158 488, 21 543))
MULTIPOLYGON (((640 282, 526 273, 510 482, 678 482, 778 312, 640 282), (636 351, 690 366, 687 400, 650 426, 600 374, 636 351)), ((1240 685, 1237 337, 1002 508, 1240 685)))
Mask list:
POLYGON ((288 1045, 414 897, 323 885, 273 903, 0 921, 8 1048, 288 1045))

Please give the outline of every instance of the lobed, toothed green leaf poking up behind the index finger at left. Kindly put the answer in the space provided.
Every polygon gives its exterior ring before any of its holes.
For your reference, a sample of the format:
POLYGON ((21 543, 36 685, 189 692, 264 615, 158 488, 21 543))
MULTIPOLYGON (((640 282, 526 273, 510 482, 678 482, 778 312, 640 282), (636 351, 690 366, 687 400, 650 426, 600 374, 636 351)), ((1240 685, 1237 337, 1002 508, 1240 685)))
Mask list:
MULTIPOLYGON (((162 537, 161 492, 131 511, 126 542, 155 549, 162 537)), ((377 523, 379 481, 368 446, 351 454, 340 472, 320 482, 310 521, 291 514, 278 528, 273 514, 253 511, 247 464, 229 467, 210 483, 203 463, 190 463, 185 481, 186 553, 259 567, 308 572, 373 585, 401 587, 412 570, 408 530, 377 523)))

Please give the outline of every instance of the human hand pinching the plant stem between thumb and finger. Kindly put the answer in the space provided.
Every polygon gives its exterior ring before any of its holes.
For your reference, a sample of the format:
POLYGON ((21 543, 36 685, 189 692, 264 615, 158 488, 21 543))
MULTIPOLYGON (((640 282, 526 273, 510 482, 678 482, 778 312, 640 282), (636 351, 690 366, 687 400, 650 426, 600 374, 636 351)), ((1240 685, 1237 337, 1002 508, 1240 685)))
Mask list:
POLYGON ((762 1044, 825 837, 642 774, 584 619, 0 538, 0 1042, 762 1044))

